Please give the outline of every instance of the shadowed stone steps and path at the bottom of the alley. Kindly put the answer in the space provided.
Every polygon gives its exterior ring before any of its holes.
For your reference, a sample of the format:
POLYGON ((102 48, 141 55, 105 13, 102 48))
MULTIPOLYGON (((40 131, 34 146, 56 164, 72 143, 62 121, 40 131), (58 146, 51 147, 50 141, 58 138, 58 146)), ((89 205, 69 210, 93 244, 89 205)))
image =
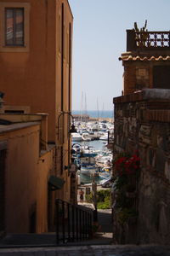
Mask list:
POLYGON ((170 256, 170 247, 113 244, 111 210, 98 212, 101 228, 87 241, 56 244, 56 234, 8 234, 0 256, 170 256))

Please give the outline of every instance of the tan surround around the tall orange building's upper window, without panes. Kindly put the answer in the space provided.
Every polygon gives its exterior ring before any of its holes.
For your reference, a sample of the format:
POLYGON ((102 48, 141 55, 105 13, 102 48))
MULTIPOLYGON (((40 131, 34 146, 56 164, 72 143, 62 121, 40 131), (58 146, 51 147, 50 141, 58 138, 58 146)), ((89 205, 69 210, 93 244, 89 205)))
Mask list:
POLYGON ((30 3, 0 3, 0 52, 29 51, 30 3), (6 44, 6 9, 24 9, 24 44, 6 44))

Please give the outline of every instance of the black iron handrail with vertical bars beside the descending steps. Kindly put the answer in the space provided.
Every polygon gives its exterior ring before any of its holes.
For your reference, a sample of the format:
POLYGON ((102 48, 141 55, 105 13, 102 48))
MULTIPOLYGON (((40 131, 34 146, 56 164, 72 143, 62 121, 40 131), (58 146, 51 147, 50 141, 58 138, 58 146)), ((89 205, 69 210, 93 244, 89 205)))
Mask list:
POLYGON ((92 210, 57 199, 56 243, 82 241, 92 237, 92 210))

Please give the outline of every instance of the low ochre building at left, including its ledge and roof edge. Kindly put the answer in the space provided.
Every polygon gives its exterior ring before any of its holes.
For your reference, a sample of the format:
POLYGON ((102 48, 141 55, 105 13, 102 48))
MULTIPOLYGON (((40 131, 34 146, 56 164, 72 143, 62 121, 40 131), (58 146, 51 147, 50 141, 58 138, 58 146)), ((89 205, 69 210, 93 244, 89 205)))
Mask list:
POLYGON ((0 114, 0 236, 48 232, 54 224, 47 122, 47 114, 0 114))

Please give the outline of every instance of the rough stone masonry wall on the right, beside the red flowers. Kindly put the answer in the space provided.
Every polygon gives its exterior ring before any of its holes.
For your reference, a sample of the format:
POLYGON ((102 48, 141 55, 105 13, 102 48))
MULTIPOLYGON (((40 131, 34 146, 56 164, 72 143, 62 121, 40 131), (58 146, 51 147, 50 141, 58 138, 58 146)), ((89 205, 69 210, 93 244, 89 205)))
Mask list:
POLYGON ((114 154, 139 150, 139 217, 133 242, 143 244, 170 244, 170 91, 164 93, 143 90, 114 99, 114 154))

